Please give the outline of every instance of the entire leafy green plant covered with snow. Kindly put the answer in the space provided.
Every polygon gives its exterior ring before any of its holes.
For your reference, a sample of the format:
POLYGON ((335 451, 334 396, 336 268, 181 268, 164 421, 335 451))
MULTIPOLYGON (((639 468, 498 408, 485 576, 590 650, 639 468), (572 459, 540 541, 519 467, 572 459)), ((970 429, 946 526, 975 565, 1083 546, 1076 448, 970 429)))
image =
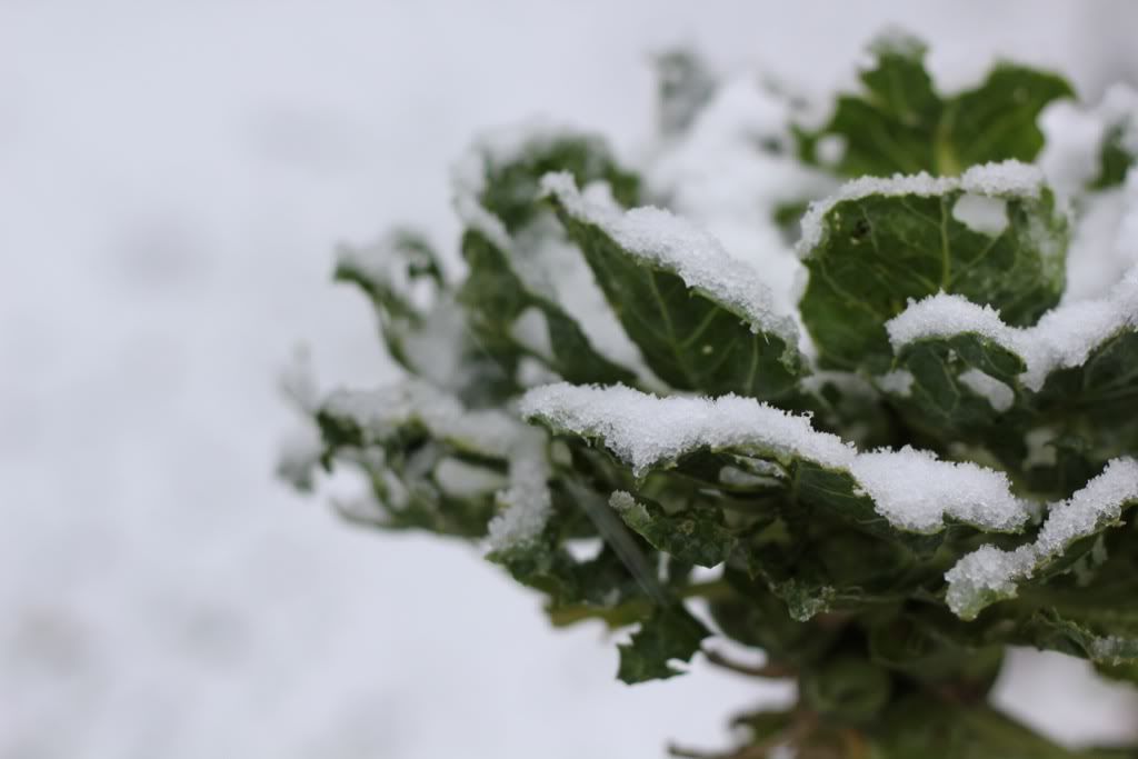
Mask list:
POLYGON ((296 393, 319 444, 282 471, 355 468, 353 519, 633 628, 626 683, 797 678, 715 756, 1123 756, 986 696, 1009 645, 1138 682, 1138 96, 869 52, 818 102, 661 56, 635 171, 572 129, 476 141, 461 263, 339 253, 405 379, 296 393))

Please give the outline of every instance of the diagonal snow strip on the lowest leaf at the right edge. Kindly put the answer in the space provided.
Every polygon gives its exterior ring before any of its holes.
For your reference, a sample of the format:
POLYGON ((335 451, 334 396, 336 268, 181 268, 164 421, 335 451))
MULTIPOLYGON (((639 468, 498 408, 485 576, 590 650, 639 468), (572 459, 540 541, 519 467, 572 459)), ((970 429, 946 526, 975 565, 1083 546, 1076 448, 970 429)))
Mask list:
POLYGON ((1073 541, 1119 519, 1122 506, 1133 501, 1138 501, 1138 461, 1114 459, 1086 487, 1050 506, 1033 543, 1014 551, 984 545, 960 559, 945 575, 949 608, 971 619, 983 608, 984 595, 1015 595, 1017 581, 1062 555, 1073 541))

